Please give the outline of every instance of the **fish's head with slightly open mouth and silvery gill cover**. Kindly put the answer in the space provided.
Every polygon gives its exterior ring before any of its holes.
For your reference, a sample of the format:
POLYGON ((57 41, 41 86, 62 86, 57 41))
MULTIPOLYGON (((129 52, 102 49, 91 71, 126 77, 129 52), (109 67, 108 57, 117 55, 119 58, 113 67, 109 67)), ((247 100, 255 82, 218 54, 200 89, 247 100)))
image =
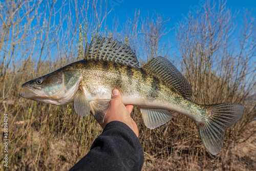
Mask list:
POLYGON ((68 104, 74 99, 79 77, 80 74, 69 70, 54 71, 24 83, 22 97, 56 105, 68 104))

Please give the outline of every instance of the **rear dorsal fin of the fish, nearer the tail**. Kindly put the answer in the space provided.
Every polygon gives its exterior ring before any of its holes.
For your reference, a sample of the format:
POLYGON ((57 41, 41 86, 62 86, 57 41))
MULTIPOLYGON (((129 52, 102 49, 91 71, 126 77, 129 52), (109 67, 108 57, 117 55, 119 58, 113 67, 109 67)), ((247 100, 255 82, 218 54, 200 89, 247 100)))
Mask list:
POLYGON ((142 68, 170 84, 184 96, 192 96, 192 88, 186 78, 166 58, 162 56, 153 58, 142 68))

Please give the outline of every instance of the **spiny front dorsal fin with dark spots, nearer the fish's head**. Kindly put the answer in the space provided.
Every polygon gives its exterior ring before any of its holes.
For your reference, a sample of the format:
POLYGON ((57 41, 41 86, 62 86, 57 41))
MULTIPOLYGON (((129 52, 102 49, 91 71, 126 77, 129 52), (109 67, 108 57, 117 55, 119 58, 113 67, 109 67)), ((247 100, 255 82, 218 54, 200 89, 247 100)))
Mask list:
POLYGON ((91 44, 87 42, 84 59, 108 60, 131 67, 139 67, 133 50, 113 38, 94 37, 91 44))

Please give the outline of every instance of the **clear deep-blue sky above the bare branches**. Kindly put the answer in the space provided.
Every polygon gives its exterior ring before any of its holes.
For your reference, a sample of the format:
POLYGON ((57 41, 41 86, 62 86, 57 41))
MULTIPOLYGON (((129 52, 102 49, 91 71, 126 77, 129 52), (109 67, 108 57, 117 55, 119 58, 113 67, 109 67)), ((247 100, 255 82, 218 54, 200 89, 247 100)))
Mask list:
MULTIPOLYGON (((97 0, 97 6, 99 6, 101 0, 97 0)), ((103 1, 103 7, 104 2, 103 1)), ((167 35, 163 36, 161 43, 170 43, 171 47, 173 48, 171 53, 177 53, 178 50, 176 49, 176 43, 175 43, 175 24, 179 22, 179 20, 184 19, 188 15, 188 12, 190 9, 193 10, 200 7, 204 4, 206 0, 180 0, 180 1, 163 1, 163 0, 147 0, 147 1, 136 1, 136 0, 107 0, 107 7, 108 7, 108 16, 106 17, 106 25, 108 25, 108 29, 112 29, 113 25, 113 19, 118 18, 119 24, 123 26, 123 24, 127 20, 127 16, 133 18, 135 11, 140 10, 140 17, 145 18, 147 16, 152 16, 155 13, 160 14, 161 16, 164 15, 164 19, 170 18, 169 22, 166 24, 166 30, 170 30, 167 35)), ((43 1, 44 2, 44 1, 43 1)), ((215 2, 218 2, 218 0, 215 0, 215 2)), ((78 7, 81 6, 81 4, 86 3, 87 6, 87 0, 78 0, 78 7)), ((89 0, 89 3, 92 3, 91 0, 89 0)), ((66 2, 68 4, 68 2, 66 2)), ((56 2, 56 9, 60 8, 62 5, 62 1, 58 0, 56 2)), ((242 22, 242 17, 244 9, 248 9, 249 11, 251 9, 254 9, 254 14, 256 10, 256 1, 255 0, 227 0, 226 2, 227 8, 232 10, 232 14, 234 14, 236 11, 240 11, 237 22, 242 22)), ((90 4, 91 8, 91 4, 90 4)), ((89 11, 90 11, 89 8, 89 11)), ((102 11, 104 9, 101 9, 102 11)), ((69 5, 65 6, 65 12, 69 11, 69 5)), ((74 8, 71 7, 71 12, 73 15, 75 15, 74 8)), ((256 16, 254 16, 256 18, 256 16)), ((59 19, 57 16, 56 19, 59 19)), ((41 20, 41 22, 43 22, 41 20)), ((53 21, 52 21, 53 22, 53 21)), ((57 20, 55 20, 57 23, 57 20)), ((75 20, 74 20, 75 22, 75 20)), ((239 25, 239 23, 238 23, 239 25)), ((63 25, 65 29, 65 24, 63 25)), ((119 30, 120 31, 120 30, 119 30)))

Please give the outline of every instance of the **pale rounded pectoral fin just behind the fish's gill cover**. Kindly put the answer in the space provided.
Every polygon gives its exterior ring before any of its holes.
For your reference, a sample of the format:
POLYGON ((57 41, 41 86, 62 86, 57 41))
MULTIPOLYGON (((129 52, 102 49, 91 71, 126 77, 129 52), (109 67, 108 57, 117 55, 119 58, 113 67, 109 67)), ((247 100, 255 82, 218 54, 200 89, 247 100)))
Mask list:
POLYGON ((91 110, 86 95, 80 89, 76 92, 74 108, 76 113, 80 116, 88 116, 91 110))

